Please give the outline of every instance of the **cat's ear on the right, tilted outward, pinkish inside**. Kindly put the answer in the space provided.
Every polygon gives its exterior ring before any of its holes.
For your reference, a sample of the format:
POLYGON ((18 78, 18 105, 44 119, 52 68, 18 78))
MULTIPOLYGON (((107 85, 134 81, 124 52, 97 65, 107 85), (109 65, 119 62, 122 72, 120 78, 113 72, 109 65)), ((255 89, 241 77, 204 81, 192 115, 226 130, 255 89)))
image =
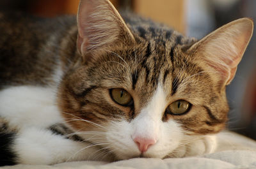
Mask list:
POLYGON ((253 21, 241 18, 220 27, 189 50, 200 58, 205 70, 214 73, 222 85, 228 85, 252 37, 253 21))

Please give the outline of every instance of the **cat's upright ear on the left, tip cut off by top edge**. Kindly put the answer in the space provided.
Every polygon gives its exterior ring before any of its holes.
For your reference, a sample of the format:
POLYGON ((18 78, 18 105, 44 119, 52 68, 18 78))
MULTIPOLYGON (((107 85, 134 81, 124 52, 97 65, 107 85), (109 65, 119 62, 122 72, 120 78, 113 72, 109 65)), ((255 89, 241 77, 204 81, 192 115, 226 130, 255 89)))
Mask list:
POLYGON ((134 40, 124 20, 108 0, 81 0, 77 26, 77 50, 83 56, 134 40))

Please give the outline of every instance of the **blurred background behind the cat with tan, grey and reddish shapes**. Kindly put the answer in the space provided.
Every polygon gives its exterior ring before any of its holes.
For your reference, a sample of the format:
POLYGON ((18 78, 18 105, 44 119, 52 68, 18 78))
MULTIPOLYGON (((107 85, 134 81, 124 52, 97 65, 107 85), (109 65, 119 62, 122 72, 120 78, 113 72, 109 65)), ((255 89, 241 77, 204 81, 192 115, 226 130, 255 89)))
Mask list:
MULTIPOLYGON (((111 0, 167 24, 186 36, 202 38, 217 27, 241 17, 256 22, 255 0, 111 0)), ((42 17, 76 15, 79 0, 0 0, 0 10, 26 11, 42 17)), ((256 140, 256 31, 227 87, 230 103, 227 127, 256 140)))

